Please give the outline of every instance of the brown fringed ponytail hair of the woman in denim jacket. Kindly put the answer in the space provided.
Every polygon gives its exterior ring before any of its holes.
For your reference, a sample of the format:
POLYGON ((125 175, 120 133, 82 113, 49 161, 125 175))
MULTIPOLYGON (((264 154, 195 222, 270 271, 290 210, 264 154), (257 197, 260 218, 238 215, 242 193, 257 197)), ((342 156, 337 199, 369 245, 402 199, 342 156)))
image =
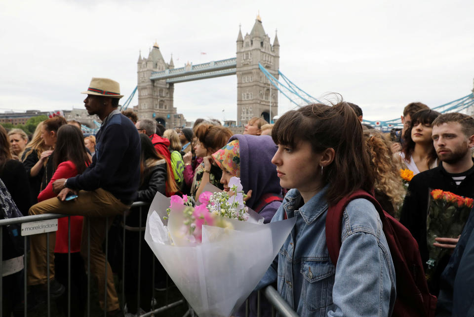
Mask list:
POLYGON ((322 174, 323 183, 329 184, 326 199, 330 205, 357 189, 373 190, 374 173, 364 148, 362 125, 346 102, 288 111, 276 121, 272 138, 276 144, 291 147, 310 142, 314 153, 334 149, 334 161, 322 174))

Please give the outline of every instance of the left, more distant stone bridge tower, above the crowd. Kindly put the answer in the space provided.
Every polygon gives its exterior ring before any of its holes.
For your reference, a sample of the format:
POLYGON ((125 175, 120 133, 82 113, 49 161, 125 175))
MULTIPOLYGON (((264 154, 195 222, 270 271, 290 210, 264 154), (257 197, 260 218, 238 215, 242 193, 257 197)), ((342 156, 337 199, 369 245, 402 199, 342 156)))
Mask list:
POLYGON ((173 107, 174 84, 167 83, 166 79, 150 79, 153 72, 173 68, 173 57, 166 63, 157 43, 153 45, 148 58, 142 58, 140 53, 137 61, 138 106, 135 109, 139 119, 156 119, 166 128, 186 125, 184 116, 177 114, 173 107))

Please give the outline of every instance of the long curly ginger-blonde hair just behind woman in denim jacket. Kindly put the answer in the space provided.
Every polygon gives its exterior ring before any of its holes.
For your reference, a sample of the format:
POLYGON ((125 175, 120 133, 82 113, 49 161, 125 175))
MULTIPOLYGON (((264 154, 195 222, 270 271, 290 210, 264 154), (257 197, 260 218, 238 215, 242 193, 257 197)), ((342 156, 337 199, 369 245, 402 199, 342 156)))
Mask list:
POLYGON ((377 130, 363 131, 365 150, 375 174, 375 198, 385 211, 398 218, 397 210, 403 203, 405 190, 399 165, 393 157, 390 141, 377 130))

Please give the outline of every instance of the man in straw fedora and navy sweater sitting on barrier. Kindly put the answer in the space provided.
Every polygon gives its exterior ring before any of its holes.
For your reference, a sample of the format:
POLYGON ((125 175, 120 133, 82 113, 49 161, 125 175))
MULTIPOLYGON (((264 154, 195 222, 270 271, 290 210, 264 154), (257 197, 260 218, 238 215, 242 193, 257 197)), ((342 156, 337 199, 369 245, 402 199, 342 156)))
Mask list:
MULTIPOLYGON (((58 213, 81 215, 84 218, 81 255, 87 263, 90 227, 90 271, 97 282, 99 303, 107 315, 121 314, 111 267, 102 251, 102 243, 116 215, 123 214, 133 202, 140 179, 140 138, 132 121, 118 111, 120 87, 117 81, 92 78, 84 107, 89 115, 97 115, 102 125, 96 135, 96 151, 92 163, 80 175, 58 179, 53 183, 57 198, 33 205, 30 214, 58 213), (78 195, 66 200, 70 193, 78 195), (106 228, 108 224, 109 228, 106 228), (107 299, 105 283, 107 277, 107 299), (105 302, 106 301, 106 302, 105 302)), ((54 256, 55 235, 51 235, 49 253, 54 256)), ((47 287, 46 235, 31 237, 31 258, 28 283, 36 294, 47 287)), ((64 287, 54 279, 54 260, 50 260, 51 297, 58 297, 64 287)))

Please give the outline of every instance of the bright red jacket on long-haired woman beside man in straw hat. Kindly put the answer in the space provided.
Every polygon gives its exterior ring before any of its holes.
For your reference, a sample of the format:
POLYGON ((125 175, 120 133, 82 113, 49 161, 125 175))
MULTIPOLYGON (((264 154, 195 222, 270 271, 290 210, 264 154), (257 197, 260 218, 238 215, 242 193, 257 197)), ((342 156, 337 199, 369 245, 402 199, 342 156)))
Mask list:
MULTIPOLYGON (((57 195, 53 193, 53 182, 60 178, 74 177, 77 174, 78 170, 72 161, 68 160, 59 164, 46 188, 38 195, 38 202, 49 198, 57 199, 57 195)), ((71 252, 80 251, 83 218, 82 216, 71 216, 71 252)), ((54 252, 68 253, 68 217, 58 219, 54 252)))

